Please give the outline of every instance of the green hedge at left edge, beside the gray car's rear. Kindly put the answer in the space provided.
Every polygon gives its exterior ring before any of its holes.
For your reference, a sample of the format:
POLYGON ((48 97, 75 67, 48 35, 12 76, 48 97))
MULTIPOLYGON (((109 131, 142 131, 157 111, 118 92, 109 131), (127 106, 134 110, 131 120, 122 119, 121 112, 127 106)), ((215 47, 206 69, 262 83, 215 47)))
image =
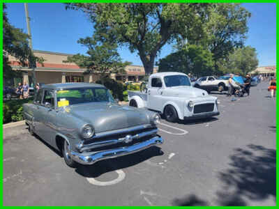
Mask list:
POLYGON ((9 100, 3 103, 3 123, 10 123, 15 121, 22 121, 22 104, 31 103, 33 99, 25 100, 9 100))

